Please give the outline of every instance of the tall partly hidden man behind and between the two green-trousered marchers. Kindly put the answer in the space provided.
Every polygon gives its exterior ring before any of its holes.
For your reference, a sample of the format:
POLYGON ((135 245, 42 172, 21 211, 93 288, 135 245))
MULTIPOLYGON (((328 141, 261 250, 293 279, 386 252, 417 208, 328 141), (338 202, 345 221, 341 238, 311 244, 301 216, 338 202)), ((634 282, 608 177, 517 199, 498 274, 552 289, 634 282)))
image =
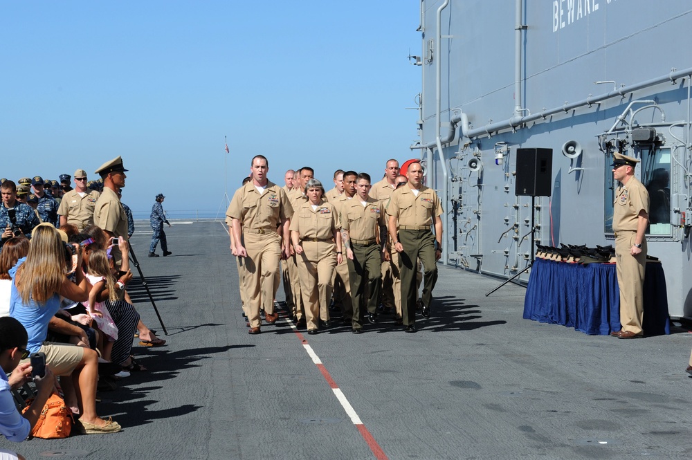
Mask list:
MULTIPOLYGON (((392 192, 394 192, 394 189, 397 187, 398 176, 399 162, 394 160, 394 158, 387 160, 387 163, 385 163, 385 176, 381 181, 372 185, 370 196, 386 205, 389 202, 390 196, 392 196, 392 192)), ((393 244, 389 238, 387 221, 385 219, 381 221, 380 239, 383 241, 385 241, 385 239, 389 240, 387 241, 387 245, 390 246, 388 248, 390 254, 396 252, 394 248, 391 247, 393 244)), ((398 321, 399 318, 401 318, 401 298, 396 292, 396 289, 399 287, 401 280, 399 279, 399 268, 392 266, 395 263, 396 262, 393 262, 391 258, 382 260, 382 306, 384 307, 385 313, 388 313, 388 311, 394 308, 397 312, 398 321)))

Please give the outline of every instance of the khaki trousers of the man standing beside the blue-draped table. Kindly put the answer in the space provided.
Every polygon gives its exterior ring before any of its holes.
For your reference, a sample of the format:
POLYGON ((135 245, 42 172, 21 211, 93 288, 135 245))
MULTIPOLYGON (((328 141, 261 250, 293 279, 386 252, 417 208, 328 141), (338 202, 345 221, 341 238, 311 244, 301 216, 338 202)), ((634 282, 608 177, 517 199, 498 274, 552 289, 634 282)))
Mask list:
POLYGON ((632 257, 630 249, 637 232, 617 232, 615 260, 617 284, 620 291, 620 324, 623 331, 641 334, 644 322, 644 273, 646 272, 646 240, 641 252, 632 257))

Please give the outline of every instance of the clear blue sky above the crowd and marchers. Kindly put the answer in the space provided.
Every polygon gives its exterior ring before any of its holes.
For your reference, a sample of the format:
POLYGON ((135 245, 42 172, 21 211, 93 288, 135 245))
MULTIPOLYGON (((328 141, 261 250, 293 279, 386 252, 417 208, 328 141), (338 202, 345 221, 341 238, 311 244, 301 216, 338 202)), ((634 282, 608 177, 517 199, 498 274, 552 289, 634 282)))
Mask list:
MULTIPOLYGON (((124 203, 217 210, 255 154, 379 180, 418 156, 418 0, 0 0, 0 176, 91 177, 121 155, 124 203)), ((138 217, 138 216, 136 216, 138 217)))

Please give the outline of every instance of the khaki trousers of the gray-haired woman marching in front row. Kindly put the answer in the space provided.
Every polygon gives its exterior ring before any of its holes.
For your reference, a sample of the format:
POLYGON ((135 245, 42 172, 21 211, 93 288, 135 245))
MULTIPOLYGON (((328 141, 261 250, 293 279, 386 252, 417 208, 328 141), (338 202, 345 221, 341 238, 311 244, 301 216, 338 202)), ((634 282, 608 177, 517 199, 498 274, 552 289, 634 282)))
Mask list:
POLYGON ((336 244, 322 241, 303 241, 305 252, 297 257, 300 273, 300 292, 305 307, 307 329, 319 329, 320 322, 329 321, 329 300, 334 285, 331 279, 336 268, 336 244), (317 257, 308 257, 316 254, 317 257))

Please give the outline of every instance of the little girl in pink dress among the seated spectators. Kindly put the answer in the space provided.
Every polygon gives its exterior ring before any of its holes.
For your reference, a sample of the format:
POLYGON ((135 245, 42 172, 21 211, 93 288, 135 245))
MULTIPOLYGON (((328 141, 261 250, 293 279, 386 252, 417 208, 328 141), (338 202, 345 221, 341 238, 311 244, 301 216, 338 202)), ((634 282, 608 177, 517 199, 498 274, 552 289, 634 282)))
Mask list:
POLYGON ((102 249, 91 251, 86 278, 89 279, 92 287, 91 291, 89 291, 89 303, 85 306, 89 309, 89 315, 93 318, 93 322, 96 323, 98 329, 102 332, 102 334, 99 334, 100 343, 98 344, 101 357, 104 360, 110 361, 113 342, 118 339, 118 327, 113 322, 105 302, 98 302, 97 300, 106 289, 108 290, 109 300, 117 300, 118 298, 116 280, 111 275, 106 251, 102 249), (107 337, 107 340, 104 340, 104 335, 107 337))

